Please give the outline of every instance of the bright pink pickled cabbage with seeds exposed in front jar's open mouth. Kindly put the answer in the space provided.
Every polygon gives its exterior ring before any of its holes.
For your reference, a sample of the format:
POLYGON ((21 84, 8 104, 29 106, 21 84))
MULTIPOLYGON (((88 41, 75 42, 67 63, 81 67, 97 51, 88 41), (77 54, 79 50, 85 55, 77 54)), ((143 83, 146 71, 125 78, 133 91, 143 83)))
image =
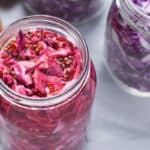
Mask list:
POLYGON ((81 51, 65 37, 43 29, 20 31, 0 51, 0 79, 26 96, 56 95, 81 71, 81 51))

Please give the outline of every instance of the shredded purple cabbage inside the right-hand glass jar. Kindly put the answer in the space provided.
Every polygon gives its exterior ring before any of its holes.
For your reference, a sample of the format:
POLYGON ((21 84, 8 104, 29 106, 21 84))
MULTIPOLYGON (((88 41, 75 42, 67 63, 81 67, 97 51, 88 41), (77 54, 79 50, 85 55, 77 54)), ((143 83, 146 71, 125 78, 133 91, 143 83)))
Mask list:
MULTIPOLYGON (((142 6, 146 0, 134 0, 134 2, 142 6)), ((113 3, 106 31, 106 57, 107 65, 117 79, 129 87, 148 92, 150 91, 150 28, 145 24, 141 26, 145 27, 145 33, 140 32, 122 17, 118 6, 113 3)))

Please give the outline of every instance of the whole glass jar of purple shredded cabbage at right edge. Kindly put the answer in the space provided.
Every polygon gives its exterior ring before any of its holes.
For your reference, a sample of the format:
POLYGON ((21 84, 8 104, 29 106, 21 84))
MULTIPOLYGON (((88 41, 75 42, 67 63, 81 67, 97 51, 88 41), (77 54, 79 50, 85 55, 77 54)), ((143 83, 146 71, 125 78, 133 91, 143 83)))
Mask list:
POLYGON ((105 64, 128 92, 150 96, 150 1, 115 0, 106 29, 105 64))

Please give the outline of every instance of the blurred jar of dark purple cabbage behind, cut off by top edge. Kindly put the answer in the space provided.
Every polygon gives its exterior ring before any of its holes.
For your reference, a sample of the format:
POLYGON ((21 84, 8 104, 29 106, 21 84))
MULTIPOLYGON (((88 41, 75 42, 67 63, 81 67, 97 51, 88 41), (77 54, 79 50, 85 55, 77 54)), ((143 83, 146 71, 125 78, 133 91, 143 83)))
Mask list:
POLYGON ((32 13, 47 14, 79 24, 97 17, 104 10, 104 0, 24 0, 32 13))

